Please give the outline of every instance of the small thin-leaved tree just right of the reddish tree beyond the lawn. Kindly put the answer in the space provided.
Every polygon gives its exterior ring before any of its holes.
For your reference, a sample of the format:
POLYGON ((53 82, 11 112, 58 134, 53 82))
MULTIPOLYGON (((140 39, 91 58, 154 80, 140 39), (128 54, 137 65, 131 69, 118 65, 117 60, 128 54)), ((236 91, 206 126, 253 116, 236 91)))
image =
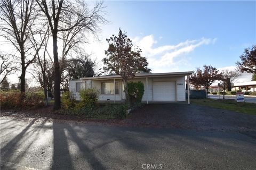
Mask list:
POLYGON ((228 88, 230 83, 233 83, 234 80, 239 77, 240 73, 236 71, 224 70, 221 72, 221 83, 220 86, 223 88, 223 99, 225 99, 225 90, 228 88))

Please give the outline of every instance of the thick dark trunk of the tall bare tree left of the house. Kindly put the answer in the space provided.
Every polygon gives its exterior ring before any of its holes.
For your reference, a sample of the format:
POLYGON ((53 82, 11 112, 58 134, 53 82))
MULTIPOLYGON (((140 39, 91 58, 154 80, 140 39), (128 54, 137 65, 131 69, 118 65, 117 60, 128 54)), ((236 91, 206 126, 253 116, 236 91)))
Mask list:
POLYGON ((60 109, 60 65, 58 58, 57 31, 52 34, 54 59, 54 110, 60 109))

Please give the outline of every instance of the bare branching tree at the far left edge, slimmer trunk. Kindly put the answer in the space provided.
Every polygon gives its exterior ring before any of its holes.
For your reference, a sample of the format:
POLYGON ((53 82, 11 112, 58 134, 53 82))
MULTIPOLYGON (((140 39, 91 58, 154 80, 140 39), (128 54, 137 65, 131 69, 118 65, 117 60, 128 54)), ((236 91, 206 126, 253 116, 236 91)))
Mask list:
MULTIPOLYGON (((21 75, 20 91, 25 92, 25 75, 28 66, 35 61, 37 52, 31 52, 33 48, 29 38, 29 30, 36 20, 35 1, 29 0, 2 0, 1 1, 1 35, 7 39, 20 53, 21 75)), ((23 95, 22 95, 23 96, 23 95)), ((25 97, 25 96, 23 96, 25 97)))

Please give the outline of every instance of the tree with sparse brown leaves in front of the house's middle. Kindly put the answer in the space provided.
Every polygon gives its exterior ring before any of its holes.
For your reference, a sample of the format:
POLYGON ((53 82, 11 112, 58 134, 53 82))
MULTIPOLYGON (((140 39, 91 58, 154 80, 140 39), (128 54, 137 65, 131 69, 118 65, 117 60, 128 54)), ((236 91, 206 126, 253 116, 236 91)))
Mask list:
POLYGON ((150 71, 147 68, 147 58, 140 55, 141 49, 134 48, 132 40, 121 29, 119 29, 118 36, 113 35, 107 41, 109 47, 105 54, 108 57, 103 58, 103 62, 106 65, 103 69, 122 77, 126 102, 129 102, 127 81, 133 78, 137 72, 150 71))

